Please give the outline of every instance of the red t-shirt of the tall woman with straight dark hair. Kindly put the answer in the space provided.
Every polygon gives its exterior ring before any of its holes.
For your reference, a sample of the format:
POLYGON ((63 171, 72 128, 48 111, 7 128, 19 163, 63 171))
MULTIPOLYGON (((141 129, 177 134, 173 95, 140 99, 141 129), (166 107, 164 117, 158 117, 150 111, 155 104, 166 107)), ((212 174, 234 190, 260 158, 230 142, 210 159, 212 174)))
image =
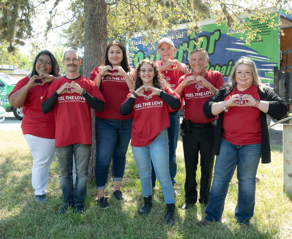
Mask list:
MULTIPOLYGON (((95 67, 92 73, 90 74, 89 79, 91 81, 94 81, 98 72, 100 72, 100 69, 98 67, 95 67)), ((118 72, 118 70, 109 72, 114 73, 118 72)), ((126 80, 123 76, 118 75, 102 76, 99 90, 102 93, 103 97, 105 98, 105 108, 101 113, 94 110, 94 114, 96 117, 102 119, 119 119, 119 120, 133 118, 133 114, 121 115, 120 113, 121 104, 124 102, 128 93, 130 92, 126 80)))

